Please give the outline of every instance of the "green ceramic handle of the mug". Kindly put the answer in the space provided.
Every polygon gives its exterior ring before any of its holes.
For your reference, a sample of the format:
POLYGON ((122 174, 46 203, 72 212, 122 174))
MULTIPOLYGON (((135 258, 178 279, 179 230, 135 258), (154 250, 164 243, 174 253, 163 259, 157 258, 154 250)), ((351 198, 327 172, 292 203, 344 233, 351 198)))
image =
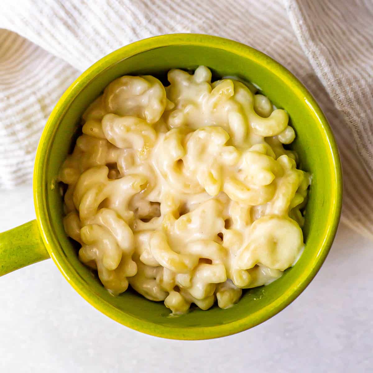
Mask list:
POLYGON ((36 220, 0 233, 0 276, 48 258, 36 220))

